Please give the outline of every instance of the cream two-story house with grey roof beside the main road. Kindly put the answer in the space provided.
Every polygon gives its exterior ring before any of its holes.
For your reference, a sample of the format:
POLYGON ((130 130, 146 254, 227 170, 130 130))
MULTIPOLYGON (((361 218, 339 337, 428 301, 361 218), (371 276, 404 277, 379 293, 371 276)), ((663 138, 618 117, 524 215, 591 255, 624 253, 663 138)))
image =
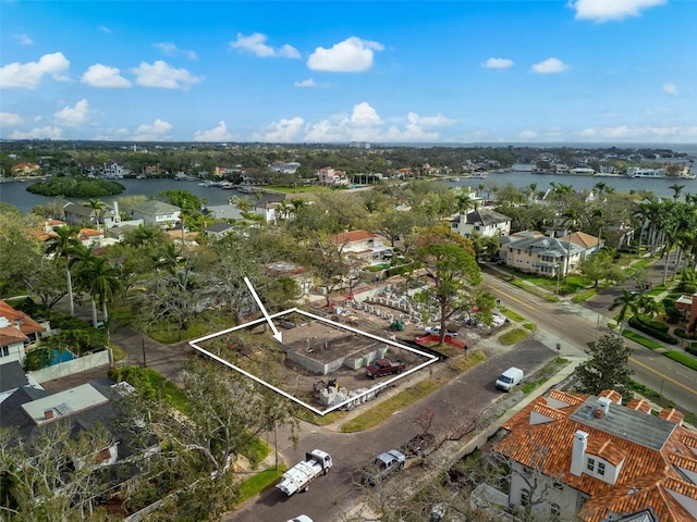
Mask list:
POLYGON ((518 232, 499 238, 499 260, 506 266, 547 277, 564 276, 576 270, 584 248, 539 232, 518 232))

